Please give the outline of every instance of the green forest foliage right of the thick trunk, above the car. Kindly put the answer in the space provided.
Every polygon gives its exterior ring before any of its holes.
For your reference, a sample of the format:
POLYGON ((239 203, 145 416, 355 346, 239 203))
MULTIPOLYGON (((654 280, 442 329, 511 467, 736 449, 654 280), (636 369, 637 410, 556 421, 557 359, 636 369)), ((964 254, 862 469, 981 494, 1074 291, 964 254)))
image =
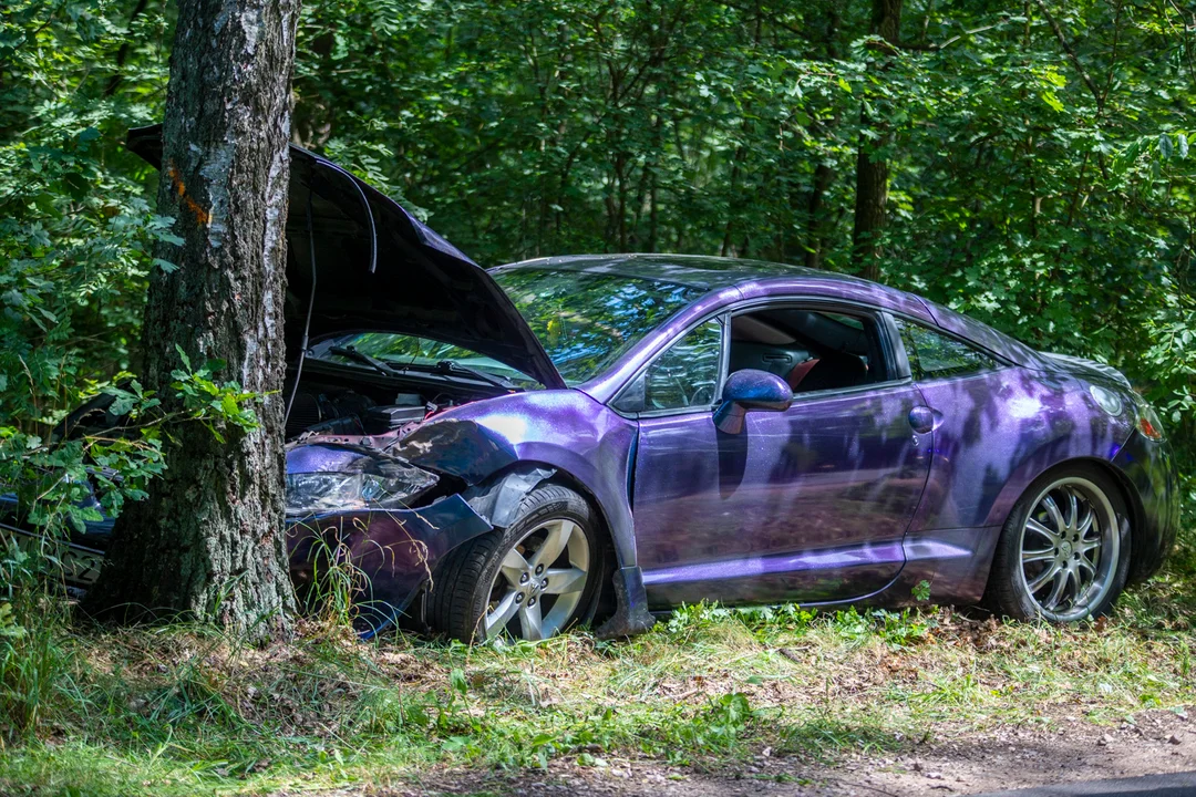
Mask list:
POLYGON ((484 264, 637 250, 835 270, 862 141, 890 165, 883 281, 1123 368, 1191 447, 1180 12, 907 2, 896 53, 868 24, 836 0, 317 1, 295 135, 484 264))

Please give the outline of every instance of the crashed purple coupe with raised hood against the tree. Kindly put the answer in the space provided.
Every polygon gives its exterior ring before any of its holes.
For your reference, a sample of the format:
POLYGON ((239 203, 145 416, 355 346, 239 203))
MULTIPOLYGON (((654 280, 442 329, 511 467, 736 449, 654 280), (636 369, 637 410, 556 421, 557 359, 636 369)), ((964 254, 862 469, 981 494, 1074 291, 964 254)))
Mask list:
POLYGON ((1075 621, 1174 539, 1121 373, 909 293, 672 255, 488 271, 298 148, 288 259, 292 574, 352 564, 365 637, 629 634, 701 600, 1075 621))

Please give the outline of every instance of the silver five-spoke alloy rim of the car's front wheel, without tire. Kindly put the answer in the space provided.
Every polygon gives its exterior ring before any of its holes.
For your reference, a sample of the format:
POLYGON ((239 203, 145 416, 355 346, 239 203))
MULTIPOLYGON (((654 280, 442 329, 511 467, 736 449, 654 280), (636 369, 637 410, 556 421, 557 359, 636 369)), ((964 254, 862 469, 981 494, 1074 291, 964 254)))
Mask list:
POLYGON ((590 533, 567 517, 545 520, 502 557, 480 636, 547 639, 573 617, 590 581, 590 533))

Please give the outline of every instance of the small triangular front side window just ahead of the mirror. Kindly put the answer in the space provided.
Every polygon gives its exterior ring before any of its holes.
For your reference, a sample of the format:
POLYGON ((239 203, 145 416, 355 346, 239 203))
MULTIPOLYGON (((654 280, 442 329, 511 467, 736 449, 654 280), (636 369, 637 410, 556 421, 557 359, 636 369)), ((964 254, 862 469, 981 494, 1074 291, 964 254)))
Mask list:
POLYGON ((722 323, 712 319, 690 330, 659 355, 615 401, 622 412, 708 407, 719 387, 722 323))

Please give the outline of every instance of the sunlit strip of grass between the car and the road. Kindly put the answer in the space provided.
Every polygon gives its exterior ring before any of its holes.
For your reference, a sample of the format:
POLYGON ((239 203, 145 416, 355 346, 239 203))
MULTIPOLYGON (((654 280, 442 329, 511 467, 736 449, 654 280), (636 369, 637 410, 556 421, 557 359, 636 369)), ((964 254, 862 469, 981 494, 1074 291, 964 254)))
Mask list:
POLYGON ((1194 586, 1186 539, 1112 618, 1072 629, 694 606, 621 643, 361 644, 309 624, 257 650, 191 626, 10 626, 0 793, 385 786, 561 756, 718 766, 765 746, 835 760, 1011 723, 1119 722, 1196 703, 1194 586))

